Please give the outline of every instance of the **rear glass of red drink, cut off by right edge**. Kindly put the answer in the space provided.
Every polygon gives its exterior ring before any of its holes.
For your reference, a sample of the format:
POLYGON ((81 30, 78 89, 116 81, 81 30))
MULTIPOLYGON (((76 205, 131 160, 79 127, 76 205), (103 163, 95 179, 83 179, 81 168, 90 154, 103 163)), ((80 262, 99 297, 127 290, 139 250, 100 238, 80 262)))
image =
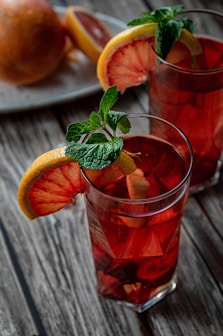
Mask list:
POLYGON ((191 193, 219 181, 223 148, 223 14, 185 10, 203 53, 171 64, 157 57, 149 74, 149 113, 169 120, 194 151, 191 193))

